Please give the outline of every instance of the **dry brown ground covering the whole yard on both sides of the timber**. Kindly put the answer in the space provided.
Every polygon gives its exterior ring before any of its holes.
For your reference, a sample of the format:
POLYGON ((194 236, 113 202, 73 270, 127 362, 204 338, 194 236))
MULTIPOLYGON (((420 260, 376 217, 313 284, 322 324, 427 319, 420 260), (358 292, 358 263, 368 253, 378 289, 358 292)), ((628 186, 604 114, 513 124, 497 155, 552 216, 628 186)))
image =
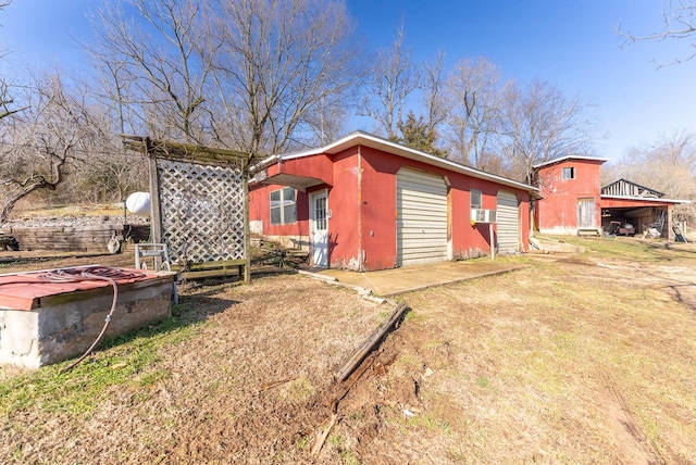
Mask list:
MULTIPOLYGON (((89 365, 0 368, 0 462, 696 463, 696 247, 647 253, 501 259, 527 266, 405 294, 411 311, 345 384, 335 370, 396 302, 295 274, 190 285, 185 331, 156 332, 157 357, 82 411, 40 392, 89 389, 89 365)), ((90 363, 116 373, 135 350, 90 363)))

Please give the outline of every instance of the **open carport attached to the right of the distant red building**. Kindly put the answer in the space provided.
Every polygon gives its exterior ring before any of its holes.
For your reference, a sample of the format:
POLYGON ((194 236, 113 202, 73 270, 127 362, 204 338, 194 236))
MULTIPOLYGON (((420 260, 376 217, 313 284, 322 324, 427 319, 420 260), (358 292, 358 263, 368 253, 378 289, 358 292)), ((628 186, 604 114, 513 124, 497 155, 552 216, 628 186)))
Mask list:
POLYGON ((662 192, 619 179, 601 188, 601 226, 606 231, 611 222, 627 223, 635 234, 655 228, 661 237, 671 240, 674 238, 674 205, 680 203, 688 201, 666 199, 662 192))

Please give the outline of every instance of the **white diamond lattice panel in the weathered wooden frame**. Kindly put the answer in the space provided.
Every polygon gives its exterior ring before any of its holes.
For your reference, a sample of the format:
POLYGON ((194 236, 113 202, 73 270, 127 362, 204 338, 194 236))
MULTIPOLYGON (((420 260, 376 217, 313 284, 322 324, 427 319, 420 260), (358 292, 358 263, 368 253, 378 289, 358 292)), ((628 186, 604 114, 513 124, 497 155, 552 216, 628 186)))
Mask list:
POLYGON ((158 159, 162 241, 172 263, 245 259, 240 167, 158 159))

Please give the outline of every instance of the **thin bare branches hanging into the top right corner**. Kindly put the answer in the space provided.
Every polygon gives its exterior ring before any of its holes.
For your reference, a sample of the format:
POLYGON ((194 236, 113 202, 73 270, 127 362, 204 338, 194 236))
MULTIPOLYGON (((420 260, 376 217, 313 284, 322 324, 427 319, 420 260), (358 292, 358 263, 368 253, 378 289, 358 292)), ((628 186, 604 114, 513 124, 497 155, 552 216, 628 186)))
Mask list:
MULTIPOLYGON (((631 42, 641 40, 666 40, 666 39, 689 39, 696 38, 696 3, 693 0, 670 0, 668 8, 662 10, 663 29, 646 35, 636 35, 630 30, 623 30, 619 26, 619 35, 631 42)), ((696 40, 692 42, 696 48, 696 40)), ((687 53, 682 59, 676 59, 676 63, 689 61, 696 56, 696 51, 687 53)))

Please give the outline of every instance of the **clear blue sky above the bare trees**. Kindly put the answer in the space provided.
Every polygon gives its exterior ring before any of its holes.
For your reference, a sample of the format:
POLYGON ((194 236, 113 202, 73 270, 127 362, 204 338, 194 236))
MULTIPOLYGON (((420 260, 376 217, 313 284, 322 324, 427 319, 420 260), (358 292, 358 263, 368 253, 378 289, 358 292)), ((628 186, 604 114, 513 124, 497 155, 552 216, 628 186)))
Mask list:
MULTIPOLYGON (((2 70, 89 68, 75 40, 88 42, 86 14, 96 0, 14 0, 0 13, 0 46, 10 49, 2 70)), ((347 0, 357 35, 387 45, 403 21, 418 60, 437 50, 446 63, 486 56, 506 79, 547 80, 566 96, 592 101, 596 154, 625 149, 675 130, 696 133, 696 60, 687 40, 624 42, 616 33, 660 30, 662 0, 347 0), (669 66, 658 66, 658 63, 669 66)), ((696 38, 695 38, 696 40, 696 38)), ((370 127, 360 127, 370 129, 370 127)))

